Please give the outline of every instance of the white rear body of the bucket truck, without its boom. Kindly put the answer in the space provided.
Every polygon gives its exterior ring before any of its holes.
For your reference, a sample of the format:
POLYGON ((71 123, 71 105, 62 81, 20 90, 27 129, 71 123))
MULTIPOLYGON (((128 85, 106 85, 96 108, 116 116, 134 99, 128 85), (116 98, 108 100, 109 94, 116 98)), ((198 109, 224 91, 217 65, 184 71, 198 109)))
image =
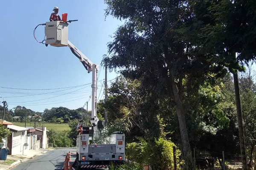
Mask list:
POLYGON ((76 139, 79 167, 121 164, 125 160, 125 134, 115 132, 108 141, 108 144, 89 144, 89 133, 79 133, 76 139))

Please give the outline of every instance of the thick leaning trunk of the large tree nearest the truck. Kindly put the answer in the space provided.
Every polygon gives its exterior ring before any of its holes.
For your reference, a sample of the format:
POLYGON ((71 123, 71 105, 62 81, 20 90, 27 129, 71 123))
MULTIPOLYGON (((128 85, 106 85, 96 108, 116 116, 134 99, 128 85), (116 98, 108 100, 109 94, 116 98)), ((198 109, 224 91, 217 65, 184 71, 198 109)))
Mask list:
POLYGON ((182 147, 184 152, 183 157, 185 158, 190 153, 189 135, 186 127, 185 113, 184 113, 183 104, 181 102, 180 95, 177 89, 177 85, 175 83, 174 76, 171 70, 170 70, 170 78, 171 78, 172 92, 174 94, 175 109, 177 112, 177 117, 178 117, 179 127, 180 127, 180 137, 181 137, 181 142, 182 142, 182 147))

